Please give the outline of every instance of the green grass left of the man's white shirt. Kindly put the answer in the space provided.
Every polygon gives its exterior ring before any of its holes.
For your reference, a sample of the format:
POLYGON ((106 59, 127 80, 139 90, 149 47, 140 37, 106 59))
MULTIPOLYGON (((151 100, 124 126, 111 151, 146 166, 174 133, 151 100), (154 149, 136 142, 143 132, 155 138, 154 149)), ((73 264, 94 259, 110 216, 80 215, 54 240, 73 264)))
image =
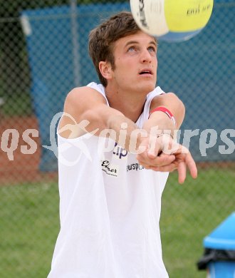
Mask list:
POLYGON ((0 277, 45 278, 59 229, 56 183, 0 188, 0 277))

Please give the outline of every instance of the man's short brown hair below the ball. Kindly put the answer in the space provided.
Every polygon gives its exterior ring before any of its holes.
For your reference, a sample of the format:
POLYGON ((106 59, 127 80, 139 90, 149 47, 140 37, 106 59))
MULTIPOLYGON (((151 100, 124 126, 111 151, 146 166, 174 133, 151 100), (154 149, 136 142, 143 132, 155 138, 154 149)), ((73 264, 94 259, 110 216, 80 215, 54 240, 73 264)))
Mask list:
POLYGON ((111 16, 110 19, 90 31, 89 53, 103 86, 107 86, 107 80, 100 73, 100 61, 110 62, 112 68, 115 69, 113 44, 119 38, 136 34, 138 31, 140 28, 128 11, 121 11, 111 16))

